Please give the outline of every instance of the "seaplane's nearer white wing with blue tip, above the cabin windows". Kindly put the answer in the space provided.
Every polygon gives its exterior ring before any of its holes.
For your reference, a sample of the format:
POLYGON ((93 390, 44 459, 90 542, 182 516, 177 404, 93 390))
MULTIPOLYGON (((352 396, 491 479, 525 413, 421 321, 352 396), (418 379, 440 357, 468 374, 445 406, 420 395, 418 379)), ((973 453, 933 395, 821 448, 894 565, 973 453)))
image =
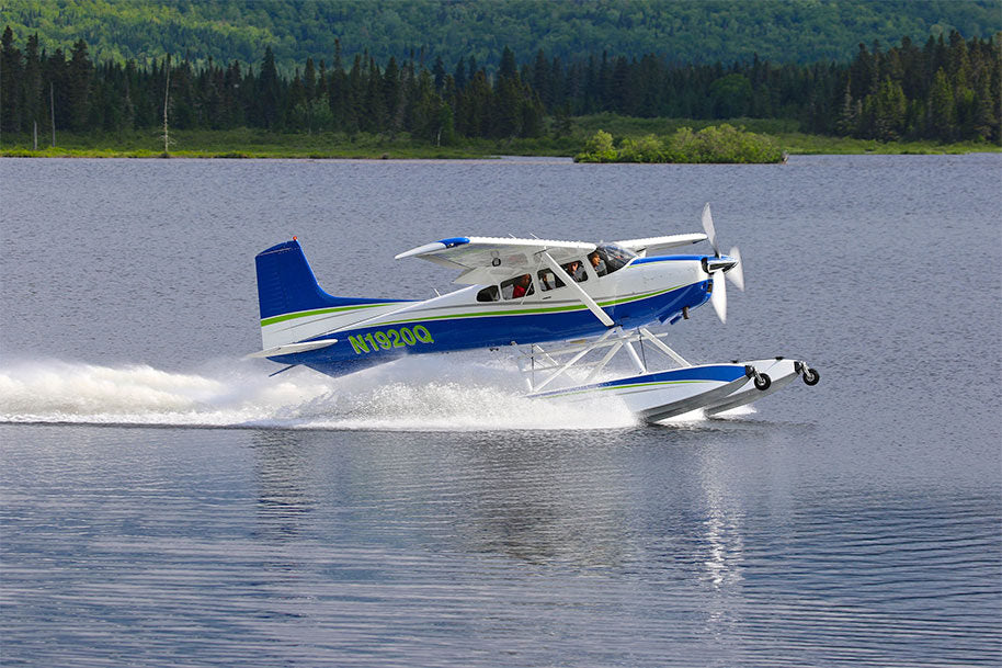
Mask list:
POLYGON ((548 252, 557 262, 581 258, 595 250, 584 241, 514 239, 505 237, 453 237, 432 241, 397 256, 421 258, 463 273, 454 281, 465 285, 498 283, 543 267, 539 253, 548 252))

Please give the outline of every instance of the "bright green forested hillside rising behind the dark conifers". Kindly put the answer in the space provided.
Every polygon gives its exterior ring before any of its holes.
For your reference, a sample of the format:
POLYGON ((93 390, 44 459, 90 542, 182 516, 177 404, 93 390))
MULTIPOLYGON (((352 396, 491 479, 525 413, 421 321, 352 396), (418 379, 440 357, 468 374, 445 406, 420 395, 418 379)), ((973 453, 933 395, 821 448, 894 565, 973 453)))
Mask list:
POLYGON ((33 33, 49 52, 83 38, 96 60, 146 64, 166 53, 196 64, 258 65, 271 46, 283 71, 307 57, 377 61, 413 49, 448 70, 472 56, 492 69, 505 46, 527 63, 656 54, 669 61, 845 63, 857 45, 923 42, 957 30, 965 37, 1002 31, 999 0, 3 0, 0 30, 18 43, 33 33))

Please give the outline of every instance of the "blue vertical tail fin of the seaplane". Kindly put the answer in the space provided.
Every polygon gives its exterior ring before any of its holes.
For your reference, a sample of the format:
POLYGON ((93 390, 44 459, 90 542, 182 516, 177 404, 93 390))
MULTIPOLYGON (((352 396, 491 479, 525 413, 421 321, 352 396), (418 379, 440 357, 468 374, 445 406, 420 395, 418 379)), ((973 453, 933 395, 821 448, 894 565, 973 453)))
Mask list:
POLYGON ((317 283, 303 248, 295 238, 263 250, 258 265, 258 306, 261 319, 315 308, 351 304, 383 304, 395 299, 356 299, 329 295, 317 283))

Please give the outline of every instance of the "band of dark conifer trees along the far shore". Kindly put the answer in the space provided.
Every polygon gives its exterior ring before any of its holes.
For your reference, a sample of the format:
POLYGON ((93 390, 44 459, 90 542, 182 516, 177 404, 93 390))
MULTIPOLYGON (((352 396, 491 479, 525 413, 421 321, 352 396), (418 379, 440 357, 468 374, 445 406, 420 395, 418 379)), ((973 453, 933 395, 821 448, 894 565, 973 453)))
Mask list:
POLYGON ((445 145, 462 137, 505 139, 567 134, 572 116, 611 112, 694 120, 790 118, 804 132, 880 140, 1002 140, 1002 36, 908 37, 884 50, 859 45, 851 63, 774 65, 753 56, 725 66, 607 53, 567 61, 516 63, 496 71, 474 56, 446 66, 411 52, 385 64, 351 63, 335 43, 330 64, 307 58, 280 73, 266 47, 260 66, 170 57, 140 66, 93 63, 78 39, 68 54, 24 48, 8 27, 0 49, 0 131, 37 125, 79 133, 152 128, 266 128, 274 132, 408 133, 445 145), (169 76, 168 76, 169 75, 169 76), (169 90, 166 86, 169 81, 169 90))

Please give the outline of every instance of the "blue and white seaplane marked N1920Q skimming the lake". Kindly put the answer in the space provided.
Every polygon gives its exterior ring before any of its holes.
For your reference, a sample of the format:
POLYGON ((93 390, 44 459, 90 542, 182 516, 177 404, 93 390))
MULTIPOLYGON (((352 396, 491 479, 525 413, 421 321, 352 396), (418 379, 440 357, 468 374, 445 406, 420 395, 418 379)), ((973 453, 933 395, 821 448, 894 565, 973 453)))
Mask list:
POLYGON ((688 319, 707 302, 726 322, 725 279, 744 288, 740 251, 720 253, 709 204, 702 223, 703 233, 611 244, 440 239, 396 256, 460 272, 455 283, 464 287, 429 299, 328 294, 293 237, 255 258, 262 350, 249 356, 285 365, 275 374, 306 366, 341 376, 406 355, 509 348, 527 396, 614 396, 649 422, 697 409, 714 417, 798 376, 817 384, 815 369, 783 356, 692 364, 668 346, 667 333, 651 331, 688 319), (703 241, 713 254, 665 254, 703 241), (624 356, 628 375, 613 373, 611 362, 624 356))

